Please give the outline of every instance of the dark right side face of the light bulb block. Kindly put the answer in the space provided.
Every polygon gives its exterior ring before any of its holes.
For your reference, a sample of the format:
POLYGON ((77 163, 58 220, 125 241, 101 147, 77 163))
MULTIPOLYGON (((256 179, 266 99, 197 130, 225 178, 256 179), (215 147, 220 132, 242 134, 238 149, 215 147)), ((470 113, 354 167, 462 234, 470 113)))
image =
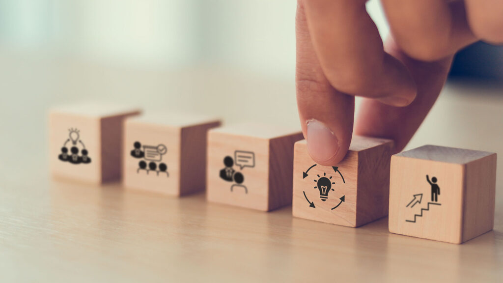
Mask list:
POLYGON ((358 153, 358 226, 388 215, 392 148, 389 141, 358 153))

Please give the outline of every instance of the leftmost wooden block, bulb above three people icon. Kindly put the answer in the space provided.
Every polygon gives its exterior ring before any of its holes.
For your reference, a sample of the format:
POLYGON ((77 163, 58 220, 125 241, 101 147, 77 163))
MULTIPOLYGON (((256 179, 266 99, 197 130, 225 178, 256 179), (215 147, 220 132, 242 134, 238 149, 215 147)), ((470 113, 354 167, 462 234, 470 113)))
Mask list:
POLYGON ((104 183, 121 177, 122 122, 140 110, 78 104, 49 112, 49 156, 53 177, 104 183))

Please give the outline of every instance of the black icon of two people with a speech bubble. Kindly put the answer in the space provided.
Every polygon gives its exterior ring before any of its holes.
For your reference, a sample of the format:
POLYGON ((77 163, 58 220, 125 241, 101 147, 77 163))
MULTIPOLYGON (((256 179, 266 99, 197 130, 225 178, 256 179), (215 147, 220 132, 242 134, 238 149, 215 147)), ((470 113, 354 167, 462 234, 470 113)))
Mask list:
POLYGON ((222 180, 235 183, 230 186, 231 192, 234 191, 234 188, 239 187, 244 189, 244 193, 248 193, 246 186, 242 185, 242 183, 244 182, 243 174, 241 172, 236 172, 236 170, 234 170, 233 168, 234 160, 235 165, 239 166, 241 171, 244 169, 244 167, 254 168, 255 153, 247 151, 235 151, 234 159, 232 159, 232 157, 230 156, 224 157, 223 165, 225 167, 221 169, 219 173, 219 176, 222 180))

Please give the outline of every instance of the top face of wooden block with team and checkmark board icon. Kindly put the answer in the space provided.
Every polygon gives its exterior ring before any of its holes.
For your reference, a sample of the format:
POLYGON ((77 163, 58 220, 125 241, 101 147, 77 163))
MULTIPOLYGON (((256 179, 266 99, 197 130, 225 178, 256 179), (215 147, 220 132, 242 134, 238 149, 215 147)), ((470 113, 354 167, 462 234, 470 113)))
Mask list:
POLYGON ((190 127, 207 123, 219 122, 220 119, 212 116, 200 114, 165 112, 165 113, 148 113, 145 115, 131 117, 127 123, 134 124, 156 124, 172 127, 190 127))

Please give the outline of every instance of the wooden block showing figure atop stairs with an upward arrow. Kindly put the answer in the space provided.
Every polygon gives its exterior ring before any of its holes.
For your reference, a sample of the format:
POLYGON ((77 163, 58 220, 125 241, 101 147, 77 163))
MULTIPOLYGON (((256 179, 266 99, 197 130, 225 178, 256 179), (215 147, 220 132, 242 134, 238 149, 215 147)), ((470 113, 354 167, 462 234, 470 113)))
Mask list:
POLYGON ((496 154, 423 146, 393 155, 389 231, 460 244, 492 230, 496 154))

